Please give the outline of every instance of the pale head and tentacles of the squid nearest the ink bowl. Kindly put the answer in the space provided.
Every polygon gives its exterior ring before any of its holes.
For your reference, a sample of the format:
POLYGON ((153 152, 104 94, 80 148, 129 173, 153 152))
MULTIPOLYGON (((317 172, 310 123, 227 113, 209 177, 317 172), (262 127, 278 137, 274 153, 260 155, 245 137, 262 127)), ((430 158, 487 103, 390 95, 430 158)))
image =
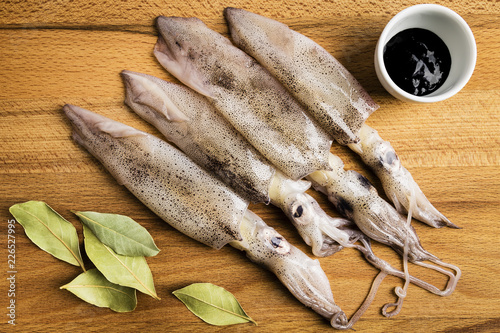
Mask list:
POLYGON ((414 196, 415 205, 411 209, 414 218, 434 228, 458 228, 429 202, 411 173, 401 164, 394 148, 375 129, 363 125, 360 138, 359 143, 349 147, 377 174, 398 212, 408 214, 410 198, 414 196))

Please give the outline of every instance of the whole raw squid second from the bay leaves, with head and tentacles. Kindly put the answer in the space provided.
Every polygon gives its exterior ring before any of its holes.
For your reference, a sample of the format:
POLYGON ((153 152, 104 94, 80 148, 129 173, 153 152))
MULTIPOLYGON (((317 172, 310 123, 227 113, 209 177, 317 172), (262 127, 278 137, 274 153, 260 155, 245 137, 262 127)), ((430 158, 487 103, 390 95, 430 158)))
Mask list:
MULTIPOLYGON (((353 247, 385 273, 404 276, 373 254, 369 240, 352 228, 352 222, 328 216, 305 193, 309 182, 294 181, 268 164, 204 96, 147 74, 122 71, 122 78, 126 86, 125 103, 132 110, 198 165, 239 190, 243 197, 254 202, 270 200, 281 208, 316 256, 353 247), (254 187, 262 190, 256 191, 254 187), (256 192, 260 194, 256 196, 256 192), (362 245, 354 244, 356 241, 362 245)), ((419 279, 411 277, 411 282, 435 292, 419 279)))

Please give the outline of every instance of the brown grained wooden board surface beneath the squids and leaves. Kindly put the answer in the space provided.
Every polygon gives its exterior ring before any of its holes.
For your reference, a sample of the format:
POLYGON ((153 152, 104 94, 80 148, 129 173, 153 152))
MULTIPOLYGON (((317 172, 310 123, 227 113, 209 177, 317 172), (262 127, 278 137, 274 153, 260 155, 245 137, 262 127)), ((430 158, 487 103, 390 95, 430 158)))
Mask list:
MULTIPOLYGON (((380 104, 367 123, 399 153, 431 202, 463 227, 433 229, 414 221, 422 244, 463 272, 450 297, 411 286, 401 314, 387 319, 383 304, 395 300, 387 278, 358 332, 500 331, 500 6, 498 1, 438 1, 470 25, 478 61, 468 85, 448 101, 408 104, 395 100, 378 82, 373 52, 384 25, 415 1, 331 0, 260 3, 230 1, 2 1, 0 3, 0 331, 7 324, 8 208, 42 200, 81 232, 70 209, 131 216, 153 235, 161 252, 148 262, 157 301, 138 294, 132 313, 118 314, 79 300, 59 287, 80 271, 34 246, 16 228, 16 326, 18 331, 326 331, 328 322, 302 306, 271 273, 243 253, 201 245, 155 217, 86 151, 70 139, 62 105, 72 103, 139 129, 157 132, 123 105, 122 69, 174 80, 156 62, 153 25, 158 15, 197 16, 227 35, 222 10, 242 7, 276 18, 313 38, 344 64, 380 104), (259 326, 220 328, 201 322, 171 293, 193 282, 211 282, 231 291, 259 326)), ((332 151, 380 183, 353 153, 332 151)), ((324 196, 311 192, 331 215, 324 196)), ((274 207, 252 205, 268 224, 310 253, 274 207)), ((386 247, 375 251, 396 267, 386 247)), ((376 270, 354 250, 343 250, 321 265, 335 301, 348 316, 360 305, 376 270)), ((444 278, 410 266, 411 272, 444 285, 444 278)))

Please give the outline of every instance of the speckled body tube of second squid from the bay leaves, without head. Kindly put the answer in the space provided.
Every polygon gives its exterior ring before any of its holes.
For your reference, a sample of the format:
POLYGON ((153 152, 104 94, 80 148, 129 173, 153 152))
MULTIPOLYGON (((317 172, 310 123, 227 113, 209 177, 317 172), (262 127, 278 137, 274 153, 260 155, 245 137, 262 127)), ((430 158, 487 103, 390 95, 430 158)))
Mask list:
POLYGON ((209 103, 178 84, 123 71, 125 103, 246 199, 269 203, 274 167, 209 103))

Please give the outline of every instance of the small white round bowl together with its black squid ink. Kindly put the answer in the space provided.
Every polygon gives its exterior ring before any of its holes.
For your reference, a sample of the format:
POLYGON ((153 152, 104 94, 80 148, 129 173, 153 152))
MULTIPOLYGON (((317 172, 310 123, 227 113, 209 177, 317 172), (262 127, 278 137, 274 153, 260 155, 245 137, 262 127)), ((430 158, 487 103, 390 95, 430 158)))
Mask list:
POLYGON ((386 25, 375 48, 375 72, 394 97, 432 103, 467 84, 476 56, 474 35, 460 15, 421 4, 404 9, 386 25))

